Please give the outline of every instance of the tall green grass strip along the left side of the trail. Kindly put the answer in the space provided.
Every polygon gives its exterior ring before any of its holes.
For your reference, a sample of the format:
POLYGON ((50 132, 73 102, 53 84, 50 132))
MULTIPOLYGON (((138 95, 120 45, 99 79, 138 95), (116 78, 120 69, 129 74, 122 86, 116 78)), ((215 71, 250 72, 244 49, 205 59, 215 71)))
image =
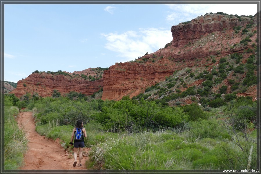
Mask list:
POLYGON ((6 106, 4 115, 4 169, 18 169, 23 165, 23 153, 27 149, 26 133, 19 129, 15 116, 19 108, 6 106))

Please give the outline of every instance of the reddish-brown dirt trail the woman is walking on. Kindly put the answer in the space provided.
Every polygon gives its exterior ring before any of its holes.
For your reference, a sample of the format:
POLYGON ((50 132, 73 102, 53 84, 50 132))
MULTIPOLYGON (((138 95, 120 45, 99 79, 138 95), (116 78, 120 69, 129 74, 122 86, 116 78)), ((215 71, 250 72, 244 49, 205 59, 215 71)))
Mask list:
MULTIPOLYGON (((35 131, 35 122, 32 112, 21 112, 17 117, 20 128, 27 133, 29 140, 28 151, 25 154, 25 165, 22 170, 83 170, 88 157, 81 160, 82 166, 78 167, 79 158, 77 157, 77 165, 73 167, 73 154, 69 154, 61 147, 59 139, 56 141, 45 138, 35 131)), ((88 148, 84 151, 88 153, 88 148)))

